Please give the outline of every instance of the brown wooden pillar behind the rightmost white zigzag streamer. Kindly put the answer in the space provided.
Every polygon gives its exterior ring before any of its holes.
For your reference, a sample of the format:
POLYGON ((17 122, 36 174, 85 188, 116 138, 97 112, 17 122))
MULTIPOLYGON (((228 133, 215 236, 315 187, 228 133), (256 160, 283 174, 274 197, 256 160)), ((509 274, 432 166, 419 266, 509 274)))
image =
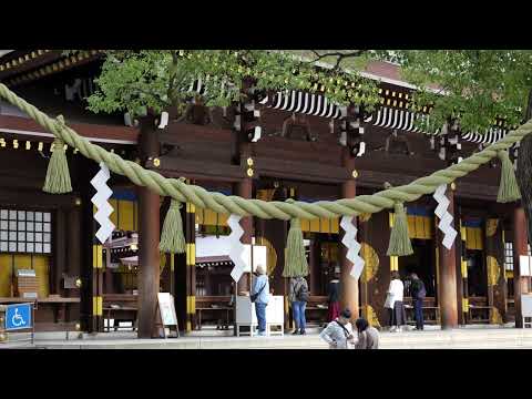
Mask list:
MULTIPOLYGON (((454 217, 454 193, 452 190, 447 190, 447 197, 449 198, 448 212, 454 217)), ((456 218, 453 219, 456 224, 456 218)), ((438 270, 438 291, 441 328, 449 329, 458 327, 458 300, 457 300, 457 245, 454 241, 451 249, 447 249, 442 245, 443 234, 437 231, 437 245, 439 254, 439 270, 438 270)))

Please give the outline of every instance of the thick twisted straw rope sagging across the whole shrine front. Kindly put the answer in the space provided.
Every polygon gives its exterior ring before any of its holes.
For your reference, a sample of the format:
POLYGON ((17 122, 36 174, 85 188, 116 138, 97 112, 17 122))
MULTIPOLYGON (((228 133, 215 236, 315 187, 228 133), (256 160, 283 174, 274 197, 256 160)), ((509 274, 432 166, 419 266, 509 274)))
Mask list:
POLYGON ((221 193, 209 193, 203 187, 187 185, 176 178, 166 178, 157 172, 145 170, 135 162, 124 161, 120 155, 92 144, 72 129, 47 116, 1 83, 0 95, 24 111, 37 123, 52 132, 55 137, 63 140, 71 147, 78 149, 84 156, 98 163, 105 162, 113 173, 126 176, 134 184, 149 187, 161 196, 170 196, 182 203, 190 202, 200 208, 209 208, 217 213, 236 214, 239 216, 253 215, 260 218, 283 221, 291 218, 332 218, 344 215, 356 216, 361 213, 374 214, 382 209, 392 208, 397 201, 403 203, 416 201, 426 194, 432 194, 439 185, 450 184, 454 180, 478 170, 481 165, 497 156, 499 151, 509 149, 532 132, 531 120, 483 151, 464 158, 458 164, 437 171, 429 176, 417 178, 408 185, 383 190, 374 195, 360 195, 355 198, 344 198, 334 202, 320 201, 316 203, 295 202, 290 204, 286 202, 244 200, 233 195, 226 196, 221 193))

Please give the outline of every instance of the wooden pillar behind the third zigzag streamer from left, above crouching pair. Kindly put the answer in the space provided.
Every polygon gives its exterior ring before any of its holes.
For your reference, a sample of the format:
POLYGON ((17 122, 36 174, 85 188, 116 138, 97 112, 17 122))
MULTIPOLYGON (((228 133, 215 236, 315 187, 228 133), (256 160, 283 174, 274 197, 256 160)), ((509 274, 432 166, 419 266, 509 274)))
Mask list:
MULTIPOLYGON (((344 167, 352 173, 355 171, 355 158, 349 155, 348 149, 344 149, 342 153, 344 167)), ((341 197, 354 198, 356 195, 355 178, 341 184, 341 197)), ((346 258, 347 248, 341 244, 345 232, 341 229, 339 235, 340 241, 340 307, 341 309, 349 308, 351 310, 352 320, 359 316, 358 311, 358 279, 350 276, 352 264, 346 258)))

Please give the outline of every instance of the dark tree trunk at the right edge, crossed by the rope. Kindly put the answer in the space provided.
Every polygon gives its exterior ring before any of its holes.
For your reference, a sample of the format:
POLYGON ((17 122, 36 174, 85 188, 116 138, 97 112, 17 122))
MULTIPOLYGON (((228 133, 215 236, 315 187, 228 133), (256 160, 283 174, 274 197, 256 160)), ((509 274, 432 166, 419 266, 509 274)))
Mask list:
MULTIPOLYGON (((532 119, 532 90, 529 92, 529 104, 526 106, 525 121, 532 119)), ((532 134, 521 140, 518 156, 518 170, 515 177, 521 191, 521 204, 526 216, 529 244, 532 243, 532 134)))

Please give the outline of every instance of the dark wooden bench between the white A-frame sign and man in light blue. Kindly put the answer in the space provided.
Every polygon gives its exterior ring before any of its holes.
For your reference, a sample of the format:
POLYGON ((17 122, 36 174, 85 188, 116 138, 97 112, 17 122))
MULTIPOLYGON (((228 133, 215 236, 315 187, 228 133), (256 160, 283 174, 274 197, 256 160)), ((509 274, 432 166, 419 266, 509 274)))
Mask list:
POLYGON ((196 296, 194 324, 198 330, 202 329, 204 314, 206 314, 207 320, 216 321, 216 329, 229 329, 229 324, 234 320, 231 296, 196 296))

